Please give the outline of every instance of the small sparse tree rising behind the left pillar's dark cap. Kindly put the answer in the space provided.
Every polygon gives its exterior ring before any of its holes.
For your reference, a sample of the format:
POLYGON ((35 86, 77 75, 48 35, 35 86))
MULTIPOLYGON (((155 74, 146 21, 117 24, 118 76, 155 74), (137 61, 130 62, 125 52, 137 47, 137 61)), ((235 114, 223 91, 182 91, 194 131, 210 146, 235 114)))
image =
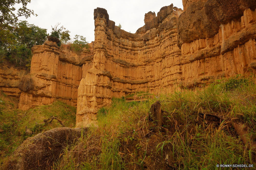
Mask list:
POLYGON ((59 47, 61 45, 61 43, 67 43, 67 41, 71 40, 70 39, 70 31, 66 30, 66 28, 64 28, 63 26, 61 26, 59 29, 57 29, 57 27, 60 25, 60 23, 56 24, 51 31, 51 37, 56 37, 58 39, 60 39, 60 42, 57 44, 59 47), (65 31, 66 30, 66 31, 65 31))

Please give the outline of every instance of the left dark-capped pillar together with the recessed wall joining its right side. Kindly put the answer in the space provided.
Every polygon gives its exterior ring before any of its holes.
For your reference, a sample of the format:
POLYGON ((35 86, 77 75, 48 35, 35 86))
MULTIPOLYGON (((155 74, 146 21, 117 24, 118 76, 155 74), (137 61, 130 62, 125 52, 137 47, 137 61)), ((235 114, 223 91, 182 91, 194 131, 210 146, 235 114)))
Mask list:
MULTIPOLYGON (((59 39, 48 37, 43 45, 35 45, 31 60, 30 74, 19 82, 19 108, 27 110, 38 105, 48 105, 55 100, 71 106, 77 105, 78 86, 82 79, 83 64, 90 65, 91 60, 76 55, 70 50, 60 50, 59 39)), ((88 66, 90 67, 90 66, 88 66)))

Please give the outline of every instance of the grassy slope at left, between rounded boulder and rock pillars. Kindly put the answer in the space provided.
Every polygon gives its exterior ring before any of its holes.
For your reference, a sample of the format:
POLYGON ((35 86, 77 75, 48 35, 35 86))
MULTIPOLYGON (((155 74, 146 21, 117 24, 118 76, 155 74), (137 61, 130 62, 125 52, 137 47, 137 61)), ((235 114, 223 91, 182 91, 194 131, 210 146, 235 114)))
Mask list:
POLYGON ((52 128, 62 127, 57 120, 51 124, 43 124, 43 119, 55 116, 62 121, 66 127, 73 127, 76 123, 76 108, 63 102, 56 101, 52 105, 38 106, 28 111, 16 109, 17 99, 0 94, 0 163, 28 137, 47 131, 52 128), (27 126, 33 134, 26 134, 27 126))

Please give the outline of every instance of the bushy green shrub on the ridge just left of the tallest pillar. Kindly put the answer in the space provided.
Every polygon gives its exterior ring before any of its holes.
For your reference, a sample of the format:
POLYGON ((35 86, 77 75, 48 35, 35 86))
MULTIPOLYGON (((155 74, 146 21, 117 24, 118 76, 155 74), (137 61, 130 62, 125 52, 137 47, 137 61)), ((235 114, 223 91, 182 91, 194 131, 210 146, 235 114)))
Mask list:
POLYGON ((75 35, 73 44, 71 44, 71 48, 80 55, 84 48, 89 51, 90 46, 88 45, 85 37, 82 35, 75 35))

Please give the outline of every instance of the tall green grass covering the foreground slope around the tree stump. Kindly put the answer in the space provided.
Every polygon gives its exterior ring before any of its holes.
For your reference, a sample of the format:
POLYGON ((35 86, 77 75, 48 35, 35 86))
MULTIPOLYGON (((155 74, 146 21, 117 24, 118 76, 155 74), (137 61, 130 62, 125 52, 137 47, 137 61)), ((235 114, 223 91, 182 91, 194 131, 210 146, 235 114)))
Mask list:
POLYGON ((168 136, 158 128, 150 139, 144 135, 155 127, 149 115, 156 98, 127 103, 123 98, 113 98, 111 106, 99 109, 98 124, 67 146, 53 169, 117 170, 146 169, 146 166, 165 169, 167 154, 169 164, 175 169, 216 169, 216 164, 255 165, 255 148, 244 146, 229 125, 230 119, 236 118, 237 123, 248 127, 250 140, 256 141, 254 80, 253 76, 238 75, 216 80, 207 87, 158 95, 165 111, 168 136), (204 114, 215 114, 223 120, 209 115, 204 119, 204 114), (169 150, 165 153, 167 145, 169 150))

